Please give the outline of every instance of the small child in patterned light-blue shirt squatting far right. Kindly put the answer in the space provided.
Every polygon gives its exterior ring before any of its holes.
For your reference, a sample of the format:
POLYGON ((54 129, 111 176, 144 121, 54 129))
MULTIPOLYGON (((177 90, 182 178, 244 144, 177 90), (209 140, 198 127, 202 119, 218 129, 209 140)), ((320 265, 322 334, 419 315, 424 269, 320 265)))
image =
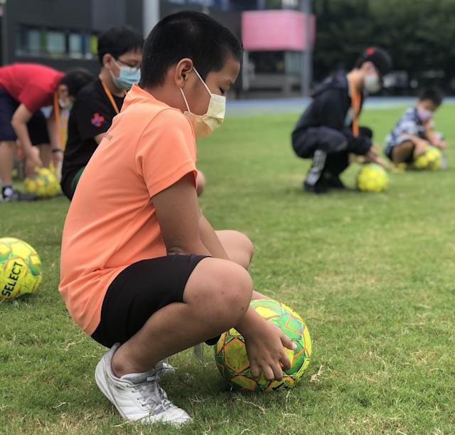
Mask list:
POLYGON ((417 104, 408 108, 385 140, 385 155, 395 164, 412 163, 429 145, 446 148, 442 135, 432 130, 434 112, 444 96, 437 88, 426 88, 417 104))

